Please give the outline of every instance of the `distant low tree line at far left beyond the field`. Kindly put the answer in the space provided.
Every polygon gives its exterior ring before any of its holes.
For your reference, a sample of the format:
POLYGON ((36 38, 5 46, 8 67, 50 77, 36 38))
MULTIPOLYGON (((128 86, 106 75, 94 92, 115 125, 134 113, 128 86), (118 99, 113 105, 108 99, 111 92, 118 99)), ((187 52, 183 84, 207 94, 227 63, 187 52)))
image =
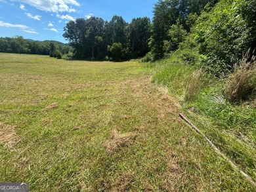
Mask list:
POLYGON ((72 52, 72 48, 58 41, 31 41, 22 36, 15 36, 0 37, 0 52, 42 54, 62 58, 62 55, 72 52))

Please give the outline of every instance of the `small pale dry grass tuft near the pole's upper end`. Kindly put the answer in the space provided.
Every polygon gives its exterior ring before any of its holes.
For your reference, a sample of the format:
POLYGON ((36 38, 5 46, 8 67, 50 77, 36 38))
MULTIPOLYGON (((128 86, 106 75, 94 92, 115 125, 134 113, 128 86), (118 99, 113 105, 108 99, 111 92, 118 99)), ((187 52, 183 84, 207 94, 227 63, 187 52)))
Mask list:
POLYGON ((202 69, 196 70, 188 77, 184 87, 184 100, 194 100, 200 90, 202 69))

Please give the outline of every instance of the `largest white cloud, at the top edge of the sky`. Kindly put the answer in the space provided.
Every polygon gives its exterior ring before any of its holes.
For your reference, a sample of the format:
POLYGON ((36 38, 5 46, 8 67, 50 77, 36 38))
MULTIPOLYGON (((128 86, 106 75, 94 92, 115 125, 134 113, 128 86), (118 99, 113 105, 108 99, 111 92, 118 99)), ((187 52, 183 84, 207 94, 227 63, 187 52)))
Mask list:
MULTIPOLYGON (((3 1, 3 0, 0 0, 3 1)), ((47 12, 75 12, 75 9, 72 8, 72 5, 77 7, 80 4, 76 0, 15 0, 22 3, 26 3, 33 7, 36 7, 39 10, 44 10, 47 12)))

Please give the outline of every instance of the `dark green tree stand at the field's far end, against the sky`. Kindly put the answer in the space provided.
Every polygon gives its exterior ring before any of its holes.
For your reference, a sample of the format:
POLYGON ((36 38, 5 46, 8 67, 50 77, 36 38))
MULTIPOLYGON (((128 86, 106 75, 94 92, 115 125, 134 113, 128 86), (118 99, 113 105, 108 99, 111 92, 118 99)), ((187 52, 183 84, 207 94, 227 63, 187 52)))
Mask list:
POLYGON ((149 51, 150 18, 134 18, 130 24, 121 16, 110 22, 102 18, 77 18, 64 28, 63 37, 74 48, 79 59, 129 60, 149 51))

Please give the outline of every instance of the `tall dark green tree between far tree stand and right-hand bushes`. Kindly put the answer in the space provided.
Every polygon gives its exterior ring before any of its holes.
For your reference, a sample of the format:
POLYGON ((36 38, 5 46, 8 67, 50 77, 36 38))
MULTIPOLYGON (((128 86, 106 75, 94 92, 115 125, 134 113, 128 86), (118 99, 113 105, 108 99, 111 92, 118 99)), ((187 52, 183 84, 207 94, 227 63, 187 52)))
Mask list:
POLYGON ((153 10, 152 35, 149 43, 154 59, 162 58, 165 53, 170 26, 179 20, 183 28, 189 31, 190 26, 186 25, 188 15, 190 13, 200 14, 207 3, 213 6, 216 2, 217 0, 158 0, 153 10))

